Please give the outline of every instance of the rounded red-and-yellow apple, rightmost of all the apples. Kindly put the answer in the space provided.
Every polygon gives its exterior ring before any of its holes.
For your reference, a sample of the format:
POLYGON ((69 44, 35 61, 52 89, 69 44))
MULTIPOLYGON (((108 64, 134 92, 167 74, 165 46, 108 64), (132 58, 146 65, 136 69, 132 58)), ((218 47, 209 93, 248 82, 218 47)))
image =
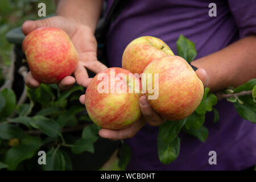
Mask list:
POLYGON ((152 73, 152 78, 159 73, 159 97, 148 102, 163 118, 184 119, 199 106, 204 95, 203 82, 182 57, 166 56, 151 61, 143 73, 152 73))

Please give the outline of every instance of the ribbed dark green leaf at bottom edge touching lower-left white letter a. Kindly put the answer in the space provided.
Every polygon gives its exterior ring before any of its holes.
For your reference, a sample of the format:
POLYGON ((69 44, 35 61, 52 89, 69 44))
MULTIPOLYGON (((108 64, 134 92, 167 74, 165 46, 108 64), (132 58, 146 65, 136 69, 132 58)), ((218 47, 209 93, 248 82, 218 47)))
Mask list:
POLYGON ((44 171, 64 171, 65 170, 65 156, 55 148, 49 150, 46 154, 46 165, 43 166, 44 171))

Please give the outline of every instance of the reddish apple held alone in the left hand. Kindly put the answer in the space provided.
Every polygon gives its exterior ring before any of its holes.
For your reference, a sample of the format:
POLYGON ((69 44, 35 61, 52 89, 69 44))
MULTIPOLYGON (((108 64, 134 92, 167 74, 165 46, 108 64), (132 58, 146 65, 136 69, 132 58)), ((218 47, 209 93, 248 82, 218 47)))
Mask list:
POLYGON ((36 28, 24 38, 22 49, 32 76, 41 83, 55 84, 77 67, 76 49, 59 28, 36 28))

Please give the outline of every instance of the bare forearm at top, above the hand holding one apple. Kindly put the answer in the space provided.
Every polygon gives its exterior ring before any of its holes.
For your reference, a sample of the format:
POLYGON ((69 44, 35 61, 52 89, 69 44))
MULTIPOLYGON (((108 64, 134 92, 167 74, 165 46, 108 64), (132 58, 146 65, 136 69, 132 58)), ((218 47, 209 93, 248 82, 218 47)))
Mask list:
POLYGON ((94 32, 101 14, 103 0, 59 0, 56 14, 92 28, 94 32))

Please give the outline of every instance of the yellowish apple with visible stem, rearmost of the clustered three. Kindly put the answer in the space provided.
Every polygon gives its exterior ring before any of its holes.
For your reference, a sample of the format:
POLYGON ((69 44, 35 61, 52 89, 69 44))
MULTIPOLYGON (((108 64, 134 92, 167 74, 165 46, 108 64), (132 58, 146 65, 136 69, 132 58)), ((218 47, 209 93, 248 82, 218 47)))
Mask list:
POLYGON ((163 40, 153 36, 134 39, 125 48, 122 56, 122 68, 141 74, 146 66, 155 59, 174 55, 163 40))

